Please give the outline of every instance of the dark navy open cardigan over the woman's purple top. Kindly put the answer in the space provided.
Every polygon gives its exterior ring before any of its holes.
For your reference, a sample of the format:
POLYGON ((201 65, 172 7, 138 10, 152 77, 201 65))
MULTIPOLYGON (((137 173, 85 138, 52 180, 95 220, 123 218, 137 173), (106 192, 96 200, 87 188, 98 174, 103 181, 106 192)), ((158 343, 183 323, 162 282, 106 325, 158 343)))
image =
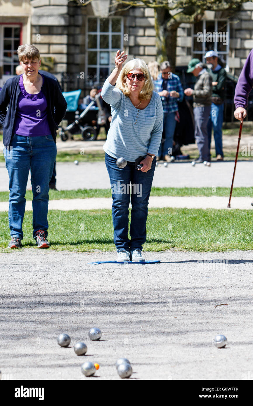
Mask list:
MULTIPOLYGON (((15 126, 15 115, 17 110, 17 99, 21 90, 19 88, 20 75, 6 80, 0 91, 0 123, 3 127, 3 144, 5 147, 11 145, 13 128, 15 126), (9 104, 8 110, 7 106, 9 104)), ((56 130, 65 116, 67 102, 61 93, 56 80, 44 76, 44 84, 41 87, 47 101, 47 118, 51 134, 56 143, 56 130)))

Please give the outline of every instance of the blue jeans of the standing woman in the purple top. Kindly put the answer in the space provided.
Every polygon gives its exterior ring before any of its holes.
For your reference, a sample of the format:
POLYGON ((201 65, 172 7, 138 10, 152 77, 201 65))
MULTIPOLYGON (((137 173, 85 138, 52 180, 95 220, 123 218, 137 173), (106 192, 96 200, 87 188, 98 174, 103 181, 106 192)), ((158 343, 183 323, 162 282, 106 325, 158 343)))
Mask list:
POLYGON ((14 134, 9 150, 4 147, 5 166, 9 173, 9 226, 11 237, 22 240, 22 223, 26 207, 26 185, 29 170, 32 184, 32 227, 35 238, 38 230, 48 235, 48 183, 56 158, 52 135, 22 136, 14 134))

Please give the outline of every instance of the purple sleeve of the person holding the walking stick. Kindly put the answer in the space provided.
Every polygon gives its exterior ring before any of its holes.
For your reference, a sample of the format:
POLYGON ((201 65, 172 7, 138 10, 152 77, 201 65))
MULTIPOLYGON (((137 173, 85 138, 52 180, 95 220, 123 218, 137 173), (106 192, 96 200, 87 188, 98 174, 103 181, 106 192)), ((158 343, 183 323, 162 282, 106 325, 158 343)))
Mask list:
POLYGON ((253 49, 248 55, 244 67, 240 73, 234 97, 236 108, 247 107, 249 93, 253 88, 253 49))

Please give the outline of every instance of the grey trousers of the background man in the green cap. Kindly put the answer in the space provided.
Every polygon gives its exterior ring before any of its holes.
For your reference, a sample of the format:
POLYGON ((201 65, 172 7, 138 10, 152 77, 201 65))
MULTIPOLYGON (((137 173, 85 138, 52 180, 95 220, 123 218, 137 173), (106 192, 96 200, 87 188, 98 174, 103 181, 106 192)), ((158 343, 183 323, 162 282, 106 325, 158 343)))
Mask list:
POLYGON ((210 160, 210 149, 208 147, 208 119, 210 116, 211 106, 194 107, 195 121, 195 140, 199 149, 199 158, 203 161, 210 160))

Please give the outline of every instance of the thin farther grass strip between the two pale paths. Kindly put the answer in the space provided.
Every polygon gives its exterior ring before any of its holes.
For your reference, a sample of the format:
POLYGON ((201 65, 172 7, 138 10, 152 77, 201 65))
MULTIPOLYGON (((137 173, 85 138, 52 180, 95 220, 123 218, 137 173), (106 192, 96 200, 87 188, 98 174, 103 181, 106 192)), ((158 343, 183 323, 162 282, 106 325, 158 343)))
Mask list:
MULTIPOLYGON (((230 188, 152 188, 151 196, 227 196, 230 188)), ((50 200, 112 197, 110 189, 50 190, 50 200)), ((233 197, 252 197, 252 188, 233 188, 233 197)), ((9 192, 0 192, 0 202, 9 200, 9 192)), ((32 200, 32 191, 26 191, 26 200, 32 200)))

